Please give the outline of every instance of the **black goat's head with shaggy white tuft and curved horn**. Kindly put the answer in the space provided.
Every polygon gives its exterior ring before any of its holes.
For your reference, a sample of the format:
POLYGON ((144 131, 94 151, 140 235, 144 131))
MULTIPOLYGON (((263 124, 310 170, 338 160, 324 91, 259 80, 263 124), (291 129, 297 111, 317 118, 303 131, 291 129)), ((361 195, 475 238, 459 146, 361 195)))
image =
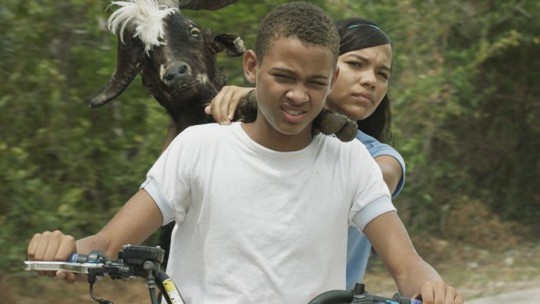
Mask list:
MULTIPOLYGON (((90 101, 101 106, 118 97, 140 72, 143 85, 180 124, 182 116, 200 111, 225 83, 215 54, 244 53, 243 41, 231 34, 215 34, 180 13, 186 9, 217 9, 236 0, 129 0, 109 18, 117 33, 117 66, 105 89, 90 101)), ((201 121, 202 122, 202 121, 201 121)), ((193 122, 191 122, 193 123, 193 122)))

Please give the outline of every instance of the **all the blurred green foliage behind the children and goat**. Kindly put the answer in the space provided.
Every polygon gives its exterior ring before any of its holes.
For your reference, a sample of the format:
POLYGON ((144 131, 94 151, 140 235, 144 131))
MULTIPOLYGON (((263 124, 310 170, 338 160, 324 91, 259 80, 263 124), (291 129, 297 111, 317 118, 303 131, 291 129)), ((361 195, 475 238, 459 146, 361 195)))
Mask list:
MULTIPOLYGON (((184 14, 251 47, 282 2, 184 14)), ((311 2, 335 19, 372 19, 393 40, 393 143, 408 165, 396 204, 411 234, 537 240, 540 2, 311 2)), ((160 153, 168 118, 139 78, 110 104, 87 106, 115 66, 108 5, 0 4, 0 269, 21 268, 35 232, 96 232, 160 153)), ((240 58, 218 61, 229 83, 245 84, 240 58)))

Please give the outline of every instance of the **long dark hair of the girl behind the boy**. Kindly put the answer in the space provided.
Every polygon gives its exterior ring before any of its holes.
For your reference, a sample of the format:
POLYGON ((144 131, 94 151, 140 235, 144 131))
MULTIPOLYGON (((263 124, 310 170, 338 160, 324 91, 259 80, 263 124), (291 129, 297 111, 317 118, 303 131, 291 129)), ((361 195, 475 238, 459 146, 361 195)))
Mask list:
MULTIPOLYGON (((370 48, 383 44, 392 44, 392 41, 377 24, 362 18, 349 18, 336 22, 340 36, 339 54, 370 48)), ((392 140, 390 130, 392 113, 388 93, 384 95, 381 103, 373 114, 363 120, 357 121, 358 129, 380 142, 392 140)))

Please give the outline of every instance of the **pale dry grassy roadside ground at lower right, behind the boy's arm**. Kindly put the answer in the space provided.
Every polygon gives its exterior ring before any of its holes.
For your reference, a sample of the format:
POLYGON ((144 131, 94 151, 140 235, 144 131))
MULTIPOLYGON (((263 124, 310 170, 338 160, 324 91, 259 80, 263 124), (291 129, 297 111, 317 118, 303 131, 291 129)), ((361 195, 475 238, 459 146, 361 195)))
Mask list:
MULTIPOLYGON (((502 250, 460 243, 442 246, 447 258, 437 255, 440 249, 420 247, 418 251, 466 300, 540 285, 540 243, 521 243, 502 250)), ((396 292, 393 280, 376 256, 370 260, 364 283, 372 293, 391 296, 396 292)))

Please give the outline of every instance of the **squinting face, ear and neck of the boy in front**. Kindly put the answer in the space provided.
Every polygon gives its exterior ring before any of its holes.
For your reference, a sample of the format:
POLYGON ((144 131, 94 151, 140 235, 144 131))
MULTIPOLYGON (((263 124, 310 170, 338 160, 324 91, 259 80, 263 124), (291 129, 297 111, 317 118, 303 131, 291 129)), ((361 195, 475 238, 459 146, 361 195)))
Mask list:
POLYGON ((254 81, 259 112, 248 134, 258 143, 281 151, 311 142, 311 124, 324 106, 337 77, 329 48, 280 38, 262 61, 253 51, 244 55, 244 73, 254 81))

